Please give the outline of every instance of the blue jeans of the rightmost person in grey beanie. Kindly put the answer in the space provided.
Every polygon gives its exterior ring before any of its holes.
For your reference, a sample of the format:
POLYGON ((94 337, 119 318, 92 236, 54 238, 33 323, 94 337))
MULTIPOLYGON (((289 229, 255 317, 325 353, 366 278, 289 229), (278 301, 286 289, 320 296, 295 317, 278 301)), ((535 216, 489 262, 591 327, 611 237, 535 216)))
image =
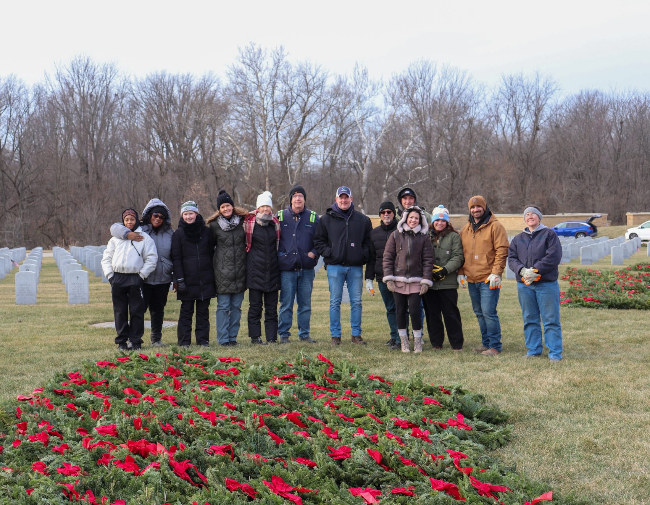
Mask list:
POLYGON ((549 348, 549 359, 562 359, 562 326, 560 326, 560 284, 558 281, 534 282, 526 286, 517 283, 517 296, 524 319, 524 337, 528 354, 539 356, 541 325, 544 325, 544 343, 549 348))

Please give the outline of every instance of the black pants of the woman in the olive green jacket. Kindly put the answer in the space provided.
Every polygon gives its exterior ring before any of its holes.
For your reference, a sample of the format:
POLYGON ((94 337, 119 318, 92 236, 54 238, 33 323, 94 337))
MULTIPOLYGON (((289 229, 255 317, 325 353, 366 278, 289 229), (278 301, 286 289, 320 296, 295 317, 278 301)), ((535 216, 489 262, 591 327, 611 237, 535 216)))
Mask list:
POLYGON ((442 347, 447 338, 454 349, 463 348, 463 323, 458 310, 458 289, 430 289, 424 294, 424 314, 429 340, 434 347, 442 347), (443 317, 445 326, 443 326, 443 317))

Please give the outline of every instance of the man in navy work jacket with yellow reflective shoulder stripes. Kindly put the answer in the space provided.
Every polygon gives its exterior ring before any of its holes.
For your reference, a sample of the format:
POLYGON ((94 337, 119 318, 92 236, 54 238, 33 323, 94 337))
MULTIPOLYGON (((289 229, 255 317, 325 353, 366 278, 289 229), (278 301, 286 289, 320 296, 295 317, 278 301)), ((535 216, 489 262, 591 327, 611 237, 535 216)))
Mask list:
POLYGON ((318 263, 313 240, 318 214, 305 207, 306 200, 305 189, 294 185, 289 191, 289 207, 278 211, 276 216, 280 223, 278 263, 281 291, 278 333, 281 344, 289 343, 295 298, 298 300, 298 338, 301 342, 316 343, 309 335, 309 320, 314 267, 318 263))

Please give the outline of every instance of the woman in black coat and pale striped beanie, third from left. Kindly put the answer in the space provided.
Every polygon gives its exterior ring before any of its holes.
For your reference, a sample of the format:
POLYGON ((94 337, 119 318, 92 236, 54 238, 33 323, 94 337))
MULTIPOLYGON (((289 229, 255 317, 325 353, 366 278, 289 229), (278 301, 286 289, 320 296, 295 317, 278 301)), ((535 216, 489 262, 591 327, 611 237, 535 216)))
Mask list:
POLYGON ((176 298, 181 300, 178 318, 178 344, 192 343, 192 315, 196 305, 196 344, 207 347, 210 342, 210 299, 216 296, 212 257, 214 241, 194 201, 181 207, 178 229, 172 235, 172 261, 176 279, 176 298))

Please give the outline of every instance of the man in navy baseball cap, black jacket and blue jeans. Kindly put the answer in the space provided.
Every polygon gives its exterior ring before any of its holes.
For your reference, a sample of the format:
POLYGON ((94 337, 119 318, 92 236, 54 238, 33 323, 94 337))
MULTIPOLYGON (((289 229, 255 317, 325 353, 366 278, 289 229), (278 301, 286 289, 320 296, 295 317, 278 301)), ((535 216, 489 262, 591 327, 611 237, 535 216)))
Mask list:
POLYGON ((354 210, 350 188, 338 188, 335 203, 318 221, 314 235, 314 246, 323 257, 330 284, 332 345, 341 344, 343 283, 347 283, 350 295, 352 343, 365 345, 361 338, 361 292, 363 265, 372 256, 371 231, 369 218, 354 210))

